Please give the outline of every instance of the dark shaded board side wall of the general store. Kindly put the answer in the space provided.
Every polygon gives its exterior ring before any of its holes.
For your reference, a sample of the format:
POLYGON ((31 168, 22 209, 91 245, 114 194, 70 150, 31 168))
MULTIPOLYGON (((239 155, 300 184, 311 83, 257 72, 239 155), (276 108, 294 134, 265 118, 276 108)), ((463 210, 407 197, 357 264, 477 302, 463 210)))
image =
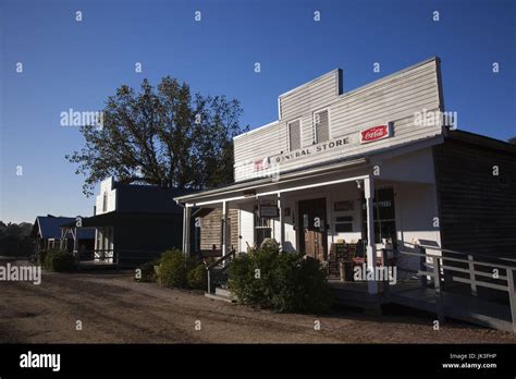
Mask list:
POLYGON ((433 149, 442 246, 514 258, 516 154, 452 139, 433 149))

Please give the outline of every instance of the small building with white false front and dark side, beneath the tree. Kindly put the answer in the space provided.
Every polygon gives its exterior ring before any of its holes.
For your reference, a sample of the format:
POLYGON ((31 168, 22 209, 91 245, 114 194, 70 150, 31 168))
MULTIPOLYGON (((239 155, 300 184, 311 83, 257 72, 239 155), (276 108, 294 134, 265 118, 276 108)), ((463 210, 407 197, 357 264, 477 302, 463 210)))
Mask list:
POLYGON ((185 190, 101 182, 94 216, 73 220, 64 227, 72 235, 90 230, 91 249, 74 253, 81 261, 136 267, 158 258, 164 250, 182 247, 183 209, 175 196, 185 190))

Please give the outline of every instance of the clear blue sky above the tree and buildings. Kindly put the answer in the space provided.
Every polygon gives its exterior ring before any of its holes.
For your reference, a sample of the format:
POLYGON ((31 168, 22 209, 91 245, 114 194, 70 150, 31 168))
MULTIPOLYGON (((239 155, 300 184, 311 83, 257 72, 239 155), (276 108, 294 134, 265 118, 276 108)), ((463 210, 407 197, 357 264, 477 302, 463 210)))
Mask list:
POLYGON ((60 113, 100 110, 121 84, 172 75, 236 97, 243 124, 278 118, 278 95, 330 70, 344 91, 432 56, 459 127, 516 135, 515 1, 0 0, 0 220, 89 216, 64 155, 83 146, 60 113), (75 11, 83 21, 75 21, 75 11), (194 21, 201 11, 202 21, 194 21), (314 12, 321 21, 314 22, 314 12), (432 12, 440 12, 440 22, 432 12), (15 72, 22 62, 24 72, 15 72), (143 73, 134 72, 135 62, 143 73), (254 63, 261 73, 254 73, 254 63), (380 62, 381 73, 372 72, 380 62), (493 74, 492 62, 500 63, 493 74), (16 175, 16 167, 23 175, 16 175))

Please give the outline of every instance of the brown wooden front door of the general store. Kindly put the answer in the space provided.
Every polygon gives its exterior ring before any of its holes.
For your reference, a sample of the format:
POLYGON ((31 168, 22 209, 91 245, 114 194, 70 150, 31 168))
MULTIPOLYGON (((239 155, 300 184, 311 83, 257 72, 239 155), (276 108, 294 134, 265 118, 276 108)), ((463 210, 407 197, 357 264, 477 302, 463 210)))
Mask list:
POLYGON ((323 260, 328 256, 327 199, 316 198, 298 204, 299 250, 323 260))

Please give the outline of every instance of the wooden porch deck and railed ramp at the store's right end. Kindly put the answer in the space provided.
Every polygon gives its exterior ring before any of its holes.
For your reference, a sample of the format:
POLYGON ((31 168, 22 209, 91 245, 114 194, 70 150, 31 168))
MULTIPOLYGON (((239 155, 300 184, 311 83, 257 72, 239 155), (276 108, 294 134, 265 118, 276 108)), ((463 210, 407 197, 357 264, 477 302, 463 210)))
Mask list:
MULTIPOLYGON (((410 244, 408 244, 410 245, 410 244)), ((384 304, 398 304, 435 314, 440 321, 445 318, 463 320, 488 328, 516 332, 516 295, 514 261, 506 259, 475 259, 470 255, 413 245, 410 250, 397 252, 402 256, 416 257, 417 270, 397 267, 398 272, 410 277, 395 285, 383 281, 377 293, 369 293, 367 281, 342 281, 330 278, 339 304, 381 313, 384 304), (437 255, 427 253, 433 249, 437 255), (488 289, 488 295, 479 296, 479 289, 488 289)))

